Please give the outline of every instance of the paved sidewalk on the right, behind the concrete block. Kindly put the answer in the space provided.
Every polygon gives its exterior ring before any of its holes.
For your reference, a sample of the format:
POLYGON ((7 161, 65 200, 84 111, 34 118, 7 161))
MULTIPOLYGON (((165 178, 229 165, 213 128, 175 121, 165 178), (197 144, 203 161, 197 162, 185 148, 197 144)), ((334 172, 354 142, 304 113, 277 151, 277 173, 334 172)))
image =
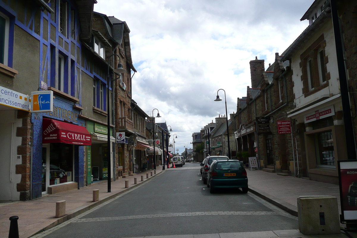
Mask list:
POLYGON ((337 197, 338 211, 341 213, 340 188, 338 185, 305 178, 280 176, 262 170, 246 170, 250 192, 294 216, 297 216, 297 198, 308 195, 337 197))

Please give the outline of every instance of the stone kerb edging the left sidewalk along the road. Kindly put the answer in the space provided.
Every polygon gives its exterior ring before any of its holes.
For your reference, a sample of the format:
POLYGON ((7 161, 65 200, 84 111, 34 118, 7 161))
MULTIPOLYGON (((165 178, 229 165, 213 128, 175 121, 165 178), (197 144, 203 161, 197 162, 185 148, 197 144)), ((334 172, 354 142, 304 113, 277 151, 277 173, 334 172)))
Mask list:
MULTIPOLYGON (((87 206, 87 205, 84 205, 84 206, 77 207, 77 208, 74 209, 74 210, 77 210, 77 211, 74 211, 74 212, 72 212, 72 213, 66 214, 66 215, 63 216, 63 217, 58 218, 56 221, 50 223, 49 225, 47 225, 47 226, 44 227, 44 228, 39 229, 39 230, 36 231, 35 233, 32 233, 32 234, 30 234, 30 235, 26 234, 26 235, 27 235, 26 237, 34 236, 34 235, 36 235, 36 234, 38 234, 38 233, 40 233, 40 232, 46 231, 46 230, 48 230, 48 229, 50 229, 50 228, 52 228, 52 227, 55 227, 55 226, 57 226, 57 225, 59 225, 59 224, 65 222, 65 221, 68 221, 69 219, 74 218, 74 217, 76 217, 76 216, 78 216, 78 215, 80 215, 80 214, 82 214, 82 213, 84 213, 84 212, 86 212, 86 211, 89 211, 90 209, 92 209, 92 208, 94 208, 94 207, 96 207, 96 206, 99 206, 100 204, 105 203, 105 202, 107 202, 107 201, 109 201, 109 200, 115 198, 116 196, 122 194, 122 193, 128 192, 128 191, 130 191, 131 189, 133 189, 133 188, 135 188, 135 187, 137 187, 137 186, 140 186, 142 183, 144 183, 144 182, 146 182, 146 181, 148 181, 148 180, 154 178, 155 176, 158 176, 158 175, 162 174, 162 173, 165 172, 165 171, 166 171, 166 170, 161 170, 161 171, 159 171, 159 172, 156 171, 156 174, 153 174, 152 177, 144 178, 144 179, 145 179, 144 181, 138 181, 138 182, 140 182, 140 183, 133 184, 133 186, 131 186, 131 187, 129 187, 129 188, 125 188, 124 190, 122 190, 122 191, 120 191, 120 192, 113 193, 113 194, 111 194, 109 197, 102 198, 102 199, 100 199, 99 201, 94 202, 94 203, 92 203, 92 204, 90 204, 90 205, 88 205, 88 206, 87 206)), ((72 211, 73 211, 73 210, 72 210, 72 211)), ((21 236, 21 237, 22 237, 22 236, 21 236)))

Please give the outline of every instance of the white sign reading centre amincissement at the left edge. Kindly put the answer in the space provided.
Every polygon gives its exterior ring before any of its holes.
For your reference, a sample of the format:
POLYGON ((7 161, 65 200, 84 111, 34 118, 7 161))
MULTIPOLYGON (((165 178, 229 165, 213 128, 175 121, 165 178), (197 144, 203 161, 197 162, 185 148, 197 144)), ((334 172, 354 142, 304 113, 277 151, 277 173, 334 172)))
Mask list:
POLYGON ((0 105, 30 111, 31 97, 0 86, 0 105))

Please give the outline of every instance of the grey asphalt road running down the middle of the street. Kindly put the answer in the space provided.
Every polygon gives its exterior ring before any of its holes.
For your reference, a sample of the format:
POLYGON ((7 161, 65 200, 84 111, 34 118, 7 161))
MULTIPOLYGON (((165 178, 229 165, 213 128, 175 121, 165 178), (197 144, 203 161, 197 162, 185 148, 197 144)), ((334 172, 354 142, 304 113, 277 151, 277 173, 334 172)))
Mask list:
POLYGON ((119 238, 298 229, 296 217, 249 192, 238 189, 211 194, 201 180, 198 163, 167 169, 70 221, 45 237, 119 238))

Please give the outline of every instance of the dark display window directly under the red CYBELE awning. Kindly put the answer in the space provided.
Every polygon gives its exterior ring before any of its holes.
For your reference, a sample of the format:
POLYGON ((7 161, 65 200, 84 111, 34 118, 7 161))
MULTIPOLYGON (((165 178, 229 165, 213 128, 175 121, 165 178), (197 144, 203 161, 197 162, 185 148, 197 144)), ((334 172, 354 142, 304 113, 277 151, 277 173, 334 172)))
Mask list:
POLYGON ((50 185, 73 181, 73 145, 50 144, 50 185))

